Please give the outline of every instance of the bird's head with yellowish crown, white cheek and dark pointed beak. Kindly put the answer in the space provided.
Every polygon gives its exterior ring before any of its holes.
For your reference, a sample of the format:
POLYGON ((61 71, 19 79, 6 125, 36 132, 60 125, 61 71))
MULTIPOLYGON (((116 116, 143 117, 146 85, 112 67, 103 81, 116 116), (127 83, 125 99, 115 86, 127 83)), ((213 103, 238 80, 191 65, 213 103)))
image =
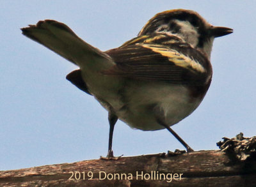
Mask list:
POLYGON ((232 32, 228 27, 212 26, 195 11, 178 9, 157 13, 138 36, 157 33, 174 35, 210 58, 214 38, 232 32))

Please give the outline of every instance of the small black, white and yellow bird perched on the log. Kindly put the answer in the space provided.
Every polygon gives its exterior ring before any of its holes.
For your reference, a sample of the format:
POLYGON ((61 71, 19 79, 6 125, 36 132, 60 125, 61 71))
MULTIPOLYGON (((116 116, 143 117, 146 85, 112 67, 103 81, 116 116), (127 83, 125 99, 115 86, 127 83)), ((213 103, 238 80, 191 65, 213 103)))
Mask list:
POLYGON ((108 154, 102 158, 109 160, 116 158, 112 142, 118 119, 143 131, 167 129, 188 153, 194 151, 170 127, 204 99, 212 80, 214 38, 233 32, 184 9, 157 13, 138 36, 105 52, 56 20, 40 20, 21 30, 79 66, 66 78, 108 111, 108 154))

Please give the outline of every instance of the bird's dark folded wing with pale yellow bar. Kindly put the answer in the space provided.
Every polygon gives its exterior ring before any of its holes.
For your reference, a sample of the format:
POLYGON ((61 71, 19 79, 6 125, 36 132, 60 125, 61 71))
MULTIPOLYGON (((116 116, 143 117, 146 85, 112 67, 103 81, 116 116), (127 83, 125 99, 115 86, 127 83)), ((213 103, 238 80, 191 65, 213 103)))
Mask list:
POLYGON ((170 84, 205 84, 211 79, 211 64, 189 45, 135 43, 106 51, 116 65, 103 71, 132 79, 152 80, 170 84))

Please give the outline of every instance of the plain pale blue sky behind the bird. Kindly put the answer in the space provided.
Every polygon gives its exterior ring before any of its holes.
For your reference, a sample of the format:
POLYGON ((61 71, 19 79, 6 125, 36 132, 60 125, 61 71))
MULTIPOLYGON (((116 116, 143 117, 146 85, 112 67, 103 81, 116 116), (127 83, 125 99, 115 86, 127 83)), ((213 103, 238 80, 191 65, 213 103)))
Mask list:
MULTIPOLYGON (((173 126, 196 151, 222 137, 256 135, 255 1, 0 1, 0 170, 97 159, 108 151, 108 113, 65 79, 77 67, 21 34, 38 20, 67 24, 100 50, 122 45, 156 13, 195 10, 214 26, 213 79, 204 101, 173 126), (174 3, 175 2, 175 3, 174 3)), ((116 156, 184 149, 167 130, 132 130, 118 121, 116 156)))

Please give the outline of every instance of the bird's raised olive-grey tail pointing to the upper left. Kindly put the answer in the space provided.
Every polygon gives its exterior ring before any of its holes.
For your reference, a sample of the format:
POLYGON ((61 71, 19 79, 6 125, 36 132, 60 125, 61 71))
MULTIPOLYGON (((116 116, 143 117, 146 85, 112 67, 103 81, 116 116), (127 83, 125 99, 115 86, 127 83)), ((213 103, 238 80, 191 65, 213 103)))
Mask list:
POLYGON ((21 29, 22 34, 56 52, 78 66, 99 61, 113 64, 106 53, 81 40, 68 26, 55 20, 39 21, 21 29), (97 59, 97 60, 96 60, 97 59))

